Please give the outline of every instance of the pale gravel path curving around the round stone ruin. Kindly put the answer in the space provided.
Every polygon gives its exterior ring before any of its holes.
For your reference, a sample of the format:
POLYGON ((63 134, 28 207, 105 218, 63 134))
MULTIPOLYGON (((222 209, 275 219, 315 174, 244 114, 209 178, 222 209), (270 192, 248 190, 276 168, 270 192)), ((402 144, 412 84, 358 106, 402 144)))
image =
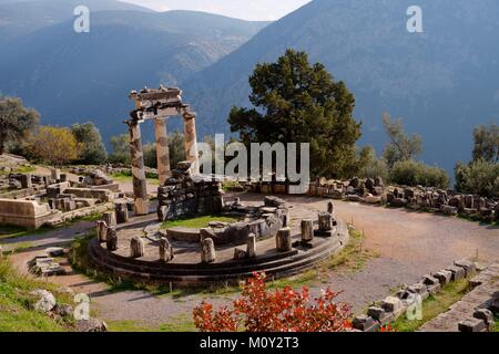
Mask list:
MULTIPOLYGON (((257 202, 262 196, 242 195, 243 201, 257 202)), ((286 197, 293 204, 293 222, 303 218, 316 218, 324 211, 327 200, 308 197, 286 197)), ((421 275, 451 264, 455 260, 476 257, 481 261, 499 260, 499 228, 480 226, 456 218, 419 214, 404 209, 387 209, 368 205, 336 201, 336 215, 365 231, 364 249, 377 257, 370 258, 359 271, 338 268, 328 273, 332 287, 343 291, 340 300, 364 309, 371 301, 390 294, 393 289, 417 282, 421 275)), ((73 226, 57 238, 68 240, 70 233, 84 225, 73 226)), ((37 236, 33 236, 37 238, 37 236)), ((18 241, 24 241, 19 239, 18 241)), ((18 259, 20 256, 17 256, 18 259)), ((22 266, 22 262, 19 263, 22 266)), ((200 304, 203 295, 180 294, 155 296, 142 291, 109 293, 103 284, 95 284, 86 278, 73 274, 53 281, 70 285, 78 292, 88 292, 99 316, 108 321, 138 321, 147 325, 160 325, 189 317, 193 306, 200 304)), ((313 291, 318 291, 313 289, 313 291)), ((210 299, 214 304, 227 303, 230 296, 210 299)))

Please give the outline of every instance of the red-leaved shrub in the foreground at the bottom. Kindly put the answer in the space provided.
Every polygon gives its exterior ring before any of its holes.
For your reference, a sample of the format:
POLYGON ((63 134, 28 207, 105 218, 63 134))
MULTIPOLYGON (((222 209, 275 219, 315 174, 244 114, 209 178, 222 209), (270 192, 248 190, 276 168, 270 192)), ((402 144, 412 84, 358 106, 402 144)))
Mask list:
POLYGON ((194 323, 202 332, 345 332, 352 329, 350 306, 334 300, 327 290, 310 301, 308 288, 268 291, 264 273, 254 273, 243 285, 233 308, 217 310, 203 302, 194 309, 194 323))

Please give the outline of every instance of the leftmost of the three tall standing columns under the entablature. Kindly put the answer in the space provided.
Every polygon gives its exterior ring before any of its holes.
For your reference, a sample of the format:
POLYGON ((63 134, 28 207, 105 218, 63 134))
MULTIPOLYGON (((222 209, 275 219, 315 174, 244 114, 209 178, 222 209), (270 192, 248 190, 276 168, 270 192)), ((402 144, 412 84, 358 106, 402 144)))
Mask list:
POLYGON ((144 170, 144 153, 142 150, 142 134, 139 123, 129 123, 130 153, 132 155, 133 194, 135 195, 135 214, 149 214, 147 181, 144 170))

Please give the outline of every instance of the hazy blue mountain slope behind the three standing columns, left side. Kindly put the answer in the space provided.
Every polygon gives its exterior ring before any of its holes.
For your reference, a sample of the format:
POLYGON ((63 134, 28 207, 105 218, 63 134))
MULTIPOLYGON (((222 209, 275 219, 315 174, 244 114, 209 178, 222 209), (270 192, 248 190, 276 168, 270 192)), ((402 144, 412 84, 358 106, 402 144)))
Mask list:
POLYGON ((68 21, 12 41, 0 92, 21 96, 44 124, 93 119, 108 138, 124 131, 130 90, 176 85, 265 25, 190 11, 95 12, 90 33, 68 21))

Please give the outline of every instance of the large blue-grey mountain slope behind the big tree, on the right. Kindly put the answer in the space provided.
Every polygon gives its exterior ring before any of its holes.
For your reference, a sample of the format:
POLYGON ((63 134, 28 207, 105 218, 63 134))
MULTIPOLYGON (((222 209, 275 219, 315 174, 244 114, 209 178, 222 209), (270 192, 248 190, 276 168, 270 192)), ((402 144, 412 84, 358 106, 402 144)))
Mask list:
POLYGON ((363 143, 381 149, 384 111, 425 139, 425 160, 451 169, 467 159, 471 128, 499 121, 499 1, 420 0, 424 33, 406 29, 409 0, 315 0, 268 25, 183 84, 204 132, 226 132, 247 77, 285 49, 326 64, 357 98, 363 143))

